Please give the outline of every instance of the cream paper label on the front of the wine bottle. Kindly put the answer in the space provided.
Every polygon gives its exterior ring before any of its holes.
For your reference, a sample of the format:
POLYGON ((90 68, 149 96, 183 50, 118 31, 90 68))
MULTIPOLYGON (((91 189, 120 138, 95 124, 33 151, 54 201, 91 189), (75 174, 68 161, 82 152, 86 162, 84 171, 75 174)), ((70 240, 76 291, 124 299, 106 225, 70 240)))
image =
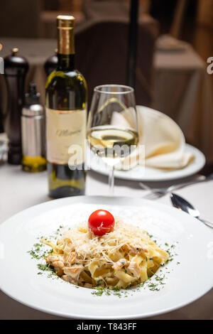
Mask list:
POLYGON ((46 122, 48 161, 58 164, 73 161, 72 165, 84 163, 86 109, 64 111, 46 108, 46 122))

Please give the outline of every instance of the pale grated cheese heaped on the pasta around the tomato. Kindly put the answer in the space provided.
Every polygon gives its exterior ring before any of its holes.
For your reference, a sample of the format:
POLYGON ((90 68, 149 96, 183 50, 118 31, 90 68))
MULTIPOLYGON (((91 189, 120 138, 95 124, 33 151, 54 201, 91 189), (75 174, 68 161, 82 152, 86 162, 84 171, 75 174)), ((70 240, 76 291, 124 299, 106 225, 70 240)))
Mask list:
POLYGON ((97 262, 114 264, 116 259, 113 259, 113 254, 124 245, 129 247, 142 245, 146 248, 151 247, 154 242, 139 227, 124 224, 117 218, 113 232, 97 237, 87 229, 87 223, 83 223, 75 229, 66 231, 58 240, 59 247, 60 244, 63 244, 64 251, 67 252, 69 249, 69 254, 71 252, 77 254, 77 262, 87 260, 89 264, 97 260, 97 262))

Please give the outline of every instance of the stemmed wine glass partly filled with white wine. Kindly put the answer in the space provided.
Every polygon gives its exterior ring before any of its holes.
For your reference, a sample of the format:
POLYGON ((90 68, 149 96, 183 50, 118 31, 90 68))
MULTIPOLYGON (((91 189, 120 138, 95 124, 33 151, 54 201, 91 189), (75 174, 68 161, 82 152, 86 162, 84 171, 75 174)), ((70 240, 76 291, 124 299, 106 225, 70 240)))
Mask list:
POLYGON ((101 85, 94 88, 87 123, 87 142, 109 171, 114 193, 114 168, 131 155, 138 144, 138 119, 132 87, 101 85))

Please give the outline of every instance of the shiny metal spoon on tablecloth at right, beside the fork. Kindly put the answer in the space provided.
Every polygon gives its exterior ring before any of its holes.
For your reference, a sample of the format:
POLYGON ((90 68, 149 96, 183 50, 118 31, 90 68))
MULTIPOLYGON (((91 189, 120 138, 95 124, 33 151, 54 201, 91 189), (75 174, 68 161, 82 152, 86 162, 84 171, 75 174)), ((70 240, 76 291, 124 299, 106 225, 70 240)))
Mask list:
POLYGON ((184 212, 187 212, 189 215, 192 217, 197 218, 201 222, 203 222, 205 225, 212 227, 213 228, 213 223, 212 222, 207 222, 207 220, 203 220, 200 218, 200 212, 192 206, 187 200, 184 198, 180 197, 177 194, 170 193, 170 200, 173 203, 173 206, 179 210, 182 210, 184 212))

